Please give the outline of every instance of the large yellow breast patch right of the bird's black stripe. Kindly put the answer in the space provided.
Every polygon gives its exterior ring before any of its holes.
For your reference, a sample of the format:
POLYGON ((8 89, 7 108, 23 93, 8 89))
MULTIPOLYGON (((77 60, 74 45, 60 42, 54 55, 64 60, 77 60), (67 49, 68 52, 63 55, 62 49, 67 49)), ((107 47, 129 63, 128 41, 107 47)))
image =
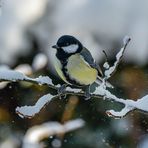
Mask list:
POLYGON ((96 69, 90 67, 82 58, 80 58, 80 54, 69 57, 67 70, 70 78, 82 85, 92 84, 96 81, 98 75, 96 69))

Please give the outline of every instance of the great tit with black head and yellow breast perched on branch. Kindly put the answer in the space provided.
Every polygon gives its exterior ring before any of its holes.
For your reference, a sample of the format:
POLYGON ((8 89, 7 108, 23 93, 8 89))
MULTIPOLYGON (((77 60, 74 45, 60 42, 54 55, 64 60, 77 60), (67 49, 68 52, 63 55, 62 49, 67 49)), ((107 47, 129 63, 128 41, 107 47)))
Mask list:
POLYGON ((103 74, 89 50, 70 35, 60 37, 52 48, 56 49, 55 69, 60 78, 66 84, 86 87, 85 96, 90 98, 90 85, 96 79, 101 81, 103 74))

